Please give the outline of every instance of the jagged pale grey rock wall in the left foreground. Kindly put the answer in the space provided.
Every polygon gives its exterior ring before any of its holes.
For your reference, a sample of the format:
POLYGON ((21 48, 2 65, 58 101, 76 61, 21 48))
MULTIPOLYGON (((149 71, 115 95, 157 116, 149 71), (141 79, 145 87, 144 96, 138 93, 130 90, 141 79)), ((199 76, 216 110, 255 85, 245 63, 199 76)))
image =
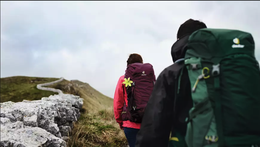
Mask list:
POLYGON ((83 99, 61 94, 1 103, 1 147, 66 146, 62 139, 80 117, 83 99))

